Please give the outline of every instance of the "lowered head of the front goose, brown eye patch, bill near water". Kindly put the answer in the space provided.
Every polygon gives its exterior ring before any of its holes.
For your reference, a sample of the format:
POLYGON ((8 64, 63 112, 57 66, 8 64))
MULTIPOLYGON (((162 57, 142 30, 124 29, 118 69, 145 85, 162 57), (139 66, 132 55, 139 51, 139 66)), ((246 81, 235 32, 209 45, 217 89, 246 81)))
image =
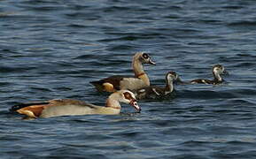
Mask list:
POLYGON ((128 103, 133 106, 138 112, 141 111, 141 108, 136 101, 136 96, 134 95, 134 93, 128 90, 120 90, 118 91, 118 93, 120 94, 119 102, 128 103))

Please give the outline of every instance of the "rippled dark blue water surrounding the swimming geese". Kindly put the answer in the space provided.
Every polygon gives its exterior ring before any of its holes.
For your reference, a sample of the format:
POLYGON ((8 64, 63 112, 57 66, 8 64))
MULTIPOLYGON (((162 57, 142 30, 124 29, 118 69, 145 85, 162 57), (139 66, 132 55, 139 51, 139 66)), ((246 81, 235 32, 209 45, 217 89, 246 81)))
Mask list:
POLYGON ((1 158, 255 158, 256 4, 237 1, 0 2, 1 158), (17 102, 74 98, 98 105, 89 81, 132 74, 147 51, 151 83, 229 71, 220 86, 177 86, 174 99, 122 105, 118 116, 22 120, 17 102))

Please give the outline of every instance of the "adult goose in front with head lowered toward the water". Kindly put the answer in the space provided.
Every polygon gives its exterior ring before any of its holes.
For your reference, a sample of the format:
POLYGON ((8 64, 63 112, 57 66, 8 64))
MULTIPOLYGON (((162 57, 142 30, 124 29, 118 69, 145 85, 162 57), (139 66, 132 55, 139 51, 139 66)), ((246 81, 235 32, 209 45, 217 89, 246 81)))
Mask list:
POLYGON ((72 99, 56 99, 47 102, 30 102, 15 105, 11 111, 25 114, 27 117, 58 117, 89 114, 119 114, 120 102, 129 103, 138 112, 140 107, 136 102, 135 95, 128 90, 120 90, 112 93, 105 102, 105 107, 93 105, 72 99))

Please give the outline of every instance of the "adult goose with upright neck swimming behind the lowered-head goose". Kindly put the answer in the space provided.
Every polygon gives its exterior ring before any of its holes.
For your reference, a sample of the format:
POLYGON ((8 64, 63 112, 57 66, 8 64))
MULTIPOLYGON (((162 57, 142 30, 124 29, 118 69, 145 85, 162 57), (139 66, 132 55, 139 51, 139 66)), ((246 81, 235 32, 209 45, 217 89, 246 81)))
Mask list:
POLYGON ((94 85, 99 92, 115 92, 120 89, 135 90, 150 86, 150 79, 144 72, 143 64, 155 65, 147 53, 137 52, 132 62, 132 67, 135 72, 134 77, 115 75, 109 78, 91 81, 90 83, 94 85))

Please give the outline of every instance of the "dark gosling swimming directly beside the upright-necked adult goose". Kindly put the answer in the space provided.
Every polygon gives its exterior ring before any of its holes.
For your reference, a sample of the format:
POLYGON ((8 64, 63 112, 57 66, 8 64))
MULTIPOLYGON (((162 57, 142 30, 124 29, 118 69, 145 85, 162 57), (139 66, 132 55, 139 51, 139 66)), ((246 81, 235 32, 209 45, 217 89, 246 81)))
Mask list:
POLYGON ((143 87, 135 91, 136 99, 159 99, 165 98, 167 95, 171 95, 174 90, 174 81, 178 79, 178 75, 175 72, 167 72, 166 75, 166 87, 143 87))

